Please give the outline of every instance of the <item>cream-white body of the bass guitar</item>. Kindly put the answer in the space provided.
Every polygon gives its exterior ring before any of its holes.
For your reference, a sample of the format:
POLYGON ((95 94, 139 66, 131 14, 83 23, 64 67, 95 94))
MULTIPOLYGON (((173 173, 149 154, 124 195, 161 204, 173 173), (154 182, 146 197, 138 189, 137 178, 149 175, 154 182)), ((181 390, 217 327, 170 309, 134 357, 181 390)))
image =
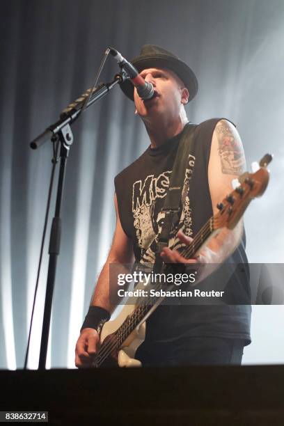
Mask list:
MULTIPOLYGON (((130 315, 136 305, 125 305, 123 310, 118 314, 116 319, 106 322, 102 327, 100 333, 101 343, 104 341, 107 336, 115 331, 123 324, 125 319, 130 315)), ((145 322, 136 327, 134 331, 127 337, 125 342, 123 342, 123 347, 118 352, 118 365, 120 367, 141 367, 141 362, 138 359, 134 359, 136 350, 139 348, 141 343, 145 338, 145 322)))

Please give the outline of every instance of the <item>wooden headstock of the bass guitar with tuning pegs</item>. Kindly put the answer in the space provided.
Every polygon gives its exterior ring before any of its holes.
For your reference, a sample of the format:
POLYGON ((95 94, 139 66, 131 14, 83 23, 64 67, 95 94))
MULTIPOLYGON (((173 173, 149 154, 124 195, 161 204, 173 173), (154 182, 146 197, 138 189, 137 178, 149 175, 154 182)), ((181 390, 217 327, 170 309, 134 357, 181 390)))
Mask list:
POLYGON ((239 185, 217 205, 219 212, 214 215, 214 230, 234 228, 251 200, 262 196, 269 181, 267 166, 271 160, 272 156, 266 154, 259 162, 258 171, 239 176, 239 185))

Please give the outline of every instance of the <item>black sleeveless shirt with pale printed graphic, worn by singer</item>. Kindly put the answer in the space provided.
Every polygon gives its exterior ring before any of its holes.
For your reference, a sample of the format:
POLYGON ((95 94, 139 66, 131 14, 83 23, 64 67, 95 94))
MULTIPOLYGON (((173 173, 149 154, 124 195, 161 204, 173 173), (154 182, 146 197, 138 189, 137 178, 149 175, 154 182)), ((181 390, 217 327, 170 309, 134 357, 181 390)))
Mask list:
MULTIPOLYGON (((175 237, 179 229, 191 237, 213 214, 207 169, 212 134, 220 118, 194 127, 194 143, 189 155, 182 191, 182 214, 173 228, 169 246, 182 245, 175 237)), ((137 262, 154 262, 156 239, 164 215, 161 207, 168 189, 180 136, 174 136, 158 148, 148 148, 141 157, 115 178, 118 213, 125 234, 132 239, 137 262)), ((227 262, 247 263, 245 239, 227 262)), ((147 320, 147 342, 173 341, 186 336, 219 336, 251 342, 251 306, 248 274, 236 272, 230 279, 228 305, 162 305, 147 320), (241 300, 242 299, 242 300, 241 300), (241 300, 241 301, 240 301, 241 300)))

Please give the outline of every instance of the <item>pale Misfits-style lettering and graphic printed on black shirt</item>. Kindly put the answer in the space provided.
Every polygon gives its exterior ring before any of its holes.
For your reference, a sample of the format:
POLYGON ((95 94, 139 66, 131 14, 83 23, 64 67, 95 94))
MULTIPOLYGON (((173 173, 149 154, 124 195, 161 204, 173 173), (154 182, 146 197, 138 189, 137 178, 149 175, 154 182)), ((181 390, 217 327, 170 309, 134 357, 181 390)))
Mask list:
MULTIPOLYGON (((195 157, 189 155, 188 167, 185 173, 182 188, 182 214, 180 222, 171 230, 169 246, 179 250, 184 246, 176 237, 178 230, 185 235, 192 235, 191 207, 189 202, 189 182, 194 170, 195 157)), ((157 178, 148 175, 143 181, 136 180, 133 184, 132 212, 134 228, 139 248, 141 248, 141 262, 154 262, 157 251, 157 235, 161 231, 164 221, 164 212, 161 212, 163 198, 166 196, 171 171, 161 173, 157 178)))

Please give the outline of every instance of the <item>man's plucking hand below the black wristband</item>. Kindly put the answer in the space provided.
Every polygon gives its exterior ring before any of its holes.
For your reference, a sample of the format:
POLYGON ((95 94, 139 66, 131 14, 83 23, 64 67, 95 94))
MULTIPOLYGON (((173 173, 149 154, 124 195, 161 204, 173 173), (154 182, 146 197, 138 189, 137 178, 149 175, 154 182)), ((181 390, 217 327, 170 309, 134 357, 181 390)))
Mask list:
POLYGON ((93 361, 100 344, 100 336, 95 329, 83 329, 77 340, 75 365, 78 368, 93 367, 93 361))

